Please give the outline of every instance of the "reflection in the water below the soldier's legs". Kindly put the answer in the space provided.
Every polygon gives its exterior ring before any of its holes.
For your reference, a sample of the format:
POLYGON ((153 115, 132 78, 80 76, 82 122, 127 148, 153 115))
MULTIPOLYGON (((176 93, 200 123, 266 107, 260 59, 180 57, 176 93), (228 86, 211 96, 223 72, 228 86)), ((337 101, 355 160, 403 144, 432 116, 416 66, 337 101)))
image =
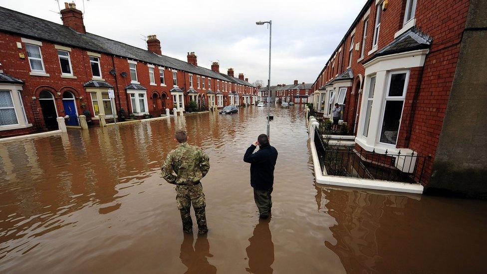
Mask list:
POLYGON ((184 234, 179 259, 188 268, 185 273, 217 273, 217 268, 208 262, 208 258, 213 255, 210 253, 207 235, 198 235, 194 248, 193 241, 193 234, 184 234))

